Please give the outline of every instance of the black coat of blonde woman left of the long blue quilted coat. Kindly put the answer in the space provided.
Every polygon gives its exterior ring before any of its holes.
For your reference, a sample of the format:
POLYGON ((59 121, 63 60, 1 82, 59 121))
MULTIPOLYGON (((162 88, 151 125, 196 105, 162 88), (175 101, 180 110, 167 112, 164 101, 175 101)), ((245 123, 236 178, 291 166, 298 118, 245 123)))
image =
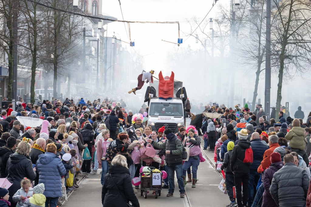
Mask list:
POLYGON ((7 161, 7 179, 13 183, 8 189, 10 202, 12 196, 21 188, 21 180, 24 177, 27 177, 30 180, 34 180, 36 177, 30 159, 27 159, 26 156, 21 154, 11 154, 7 161))

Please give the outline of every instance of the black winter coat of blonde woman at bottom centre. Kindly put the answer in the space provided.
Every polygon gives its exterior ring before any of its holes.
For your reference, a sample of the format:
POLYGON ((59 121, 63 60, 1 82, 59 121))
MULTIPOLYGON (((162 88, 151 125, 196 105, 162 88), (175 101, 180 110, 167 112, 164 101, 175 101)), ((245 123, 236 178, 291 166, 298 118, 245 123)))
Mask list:
POLYGON ((101 191, 103 207, 123 207, 127 206, 128 201, 131 201, 135 207, 139 207, 132 187, 130 172, 128 168, 112 165, 109 167, 109 173, 105 175, 101 191))

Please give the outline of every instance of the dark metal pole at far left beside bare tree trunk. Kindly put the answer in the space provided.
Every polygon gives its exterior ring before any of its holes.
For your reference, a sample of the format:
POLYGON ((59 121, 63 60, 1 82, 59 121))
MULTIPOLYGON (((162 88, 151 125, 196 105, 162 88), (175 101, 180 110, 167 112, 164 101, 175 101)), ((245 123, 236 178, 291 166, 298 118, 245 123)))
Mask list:
POLYGON ((18 21, 18 0, 13 1, 13 90, 12 99, 17 99, 17 21, 18 21))

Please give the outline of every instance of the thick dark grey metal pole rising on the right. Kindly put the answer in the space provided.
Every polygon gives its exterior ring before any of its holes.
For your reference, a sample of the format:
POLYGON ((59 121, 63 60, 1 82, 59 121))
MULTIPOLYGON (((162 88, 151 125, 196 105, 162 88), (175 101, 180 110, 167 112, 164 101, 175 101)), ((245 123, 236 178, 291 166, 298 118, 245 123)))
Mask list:
POLYGON ((266 77, 265 77, 265 109, 270 114, 270 89, 271 89, 271 0, 266 5, 266 77))

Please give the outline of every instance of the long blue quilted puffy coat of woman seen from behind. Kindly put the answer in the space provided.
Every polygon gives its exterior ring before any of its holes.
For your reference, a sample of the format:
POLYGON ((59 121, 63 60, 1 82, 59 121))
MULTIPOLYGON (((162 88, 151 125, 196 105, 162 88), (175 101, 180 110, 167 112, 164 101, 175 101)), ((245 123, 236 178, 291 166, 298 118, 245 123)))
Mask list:
POLYGON ((36 164, 39 173, 39 184, 43 183, 45 197, 56 198, 62 196, 61 176, 66 174, 66 169, 59 157, 54 153, 40 154, 36 164))

